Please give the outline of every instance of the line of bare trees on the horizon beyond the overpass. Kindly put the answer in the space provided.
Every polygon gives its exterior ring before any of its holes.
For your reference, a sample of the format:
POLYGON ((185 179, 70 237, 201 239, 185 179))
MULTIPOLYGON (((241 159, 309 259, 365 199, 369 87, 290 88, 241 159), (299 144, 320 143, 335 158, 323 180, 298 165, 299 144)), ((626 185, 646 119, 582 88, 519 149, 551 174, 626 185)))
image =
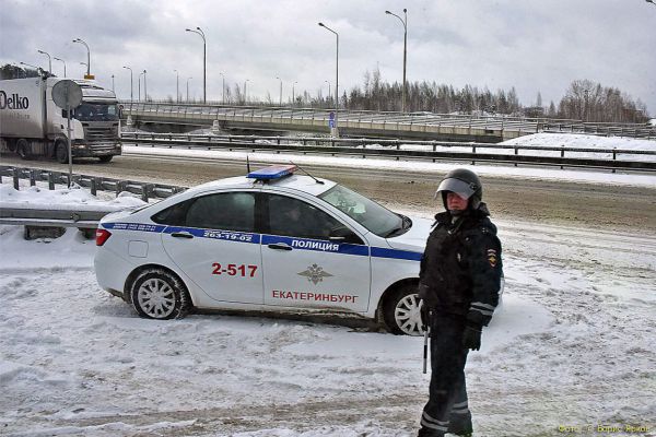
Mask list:
MULTIPOLYGON (((13 64, 0 67, 0 79, 37 76, 36 70, 23 69, 13 64)), ((364 73, 362 85, 341 91, 340 108, 351 110, 398 111, 401 109, 402 86, 399 82, 384 81, 378 69, 364 73)), ((636 122, 648 120, 646 105, 633 99, 629 94, 611 86, 604 86, 590 80, 575 80, 558 104, 553 101, 543 105, 541 94, 530 105, 522 105, 515 87, 509 90, 490 91, 487 86, 479 88, 465 85, 455 88, 453 85, 433 82, 408 82, 406 93, 406 110, 410 113, 464 114, 513 116, 529 118, 576 119, 589 122, 636 122)), ((231 105, 269 105, 278 106, 279 98, 272 98, 267 93, 263 99, 251 99, 245 90, 235 84, 226 86, 222 102, 231 105)), ((174 102, 168 96, 168 102, 174 102)), ((187 102, 183 99, 183 102, 187 102)), ((216 103, 222 103, 216 102, 216 103)), ((196 102, 194 102, 196 103, 196 102)), ((316 94, 307 91, 294 93, 293 98, 283 105, 297 107, 331 108, 335 107, 333 96, 324 96, 321 90, 316 94)))

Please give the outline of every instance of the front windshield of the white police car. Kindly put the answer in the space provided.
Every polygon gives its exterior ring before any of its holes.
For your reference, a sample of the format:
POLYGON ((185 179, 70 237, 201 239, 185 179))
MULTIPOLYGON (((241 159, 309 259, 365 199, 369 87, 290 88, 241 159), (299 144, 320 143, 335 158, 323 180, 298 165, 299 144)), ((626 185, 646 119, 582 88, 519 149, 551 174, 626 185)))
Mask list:
POLYGON ((318 197, 379 237, 402 234, 409 226, 402 215, 340 185, 336 185, 318 197))

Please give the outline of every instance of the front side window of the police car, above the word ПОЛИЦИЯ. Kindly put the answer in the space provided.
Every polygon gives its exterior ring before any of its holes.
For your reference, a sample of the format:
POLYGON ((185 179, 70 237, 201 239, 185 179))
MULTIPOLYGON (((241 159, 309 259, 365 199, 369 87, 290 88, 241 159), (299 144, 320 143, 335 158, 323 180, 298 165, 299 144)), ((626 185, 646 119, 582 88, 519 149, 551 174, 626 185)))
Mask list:
MULTIPOLYGON (((269 232, 271 234, 329 239, 337 229, 347 229, 347 233, 352 234, 341 222, 309 203, 285 196, 269 196, 269 232)), ((359 237, 355 236, 355 238, 359 237)))

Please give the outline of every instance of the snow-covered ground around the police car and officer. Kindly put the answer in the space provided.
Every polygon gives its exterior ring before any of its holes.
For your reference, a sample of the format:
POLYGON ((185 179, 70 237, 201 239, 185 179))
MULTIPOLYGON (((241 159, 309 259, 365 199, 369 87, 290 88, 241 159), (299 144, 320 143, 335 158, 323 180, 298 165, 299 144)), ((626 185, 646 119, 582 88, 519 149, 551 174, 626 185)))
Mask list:
MULTIPOLYGON (((62 199, 97 202, 0 190, 1 204, 62 199)), ((467 365, 477 435, 654 435, 656 236, 499 225, 503 309, 467 365)), ((422 339, 256 315, 143 320, 98 288, 94 250, 74 229, 26 241, 0 226, 0 435, 414 435, 422 339)))

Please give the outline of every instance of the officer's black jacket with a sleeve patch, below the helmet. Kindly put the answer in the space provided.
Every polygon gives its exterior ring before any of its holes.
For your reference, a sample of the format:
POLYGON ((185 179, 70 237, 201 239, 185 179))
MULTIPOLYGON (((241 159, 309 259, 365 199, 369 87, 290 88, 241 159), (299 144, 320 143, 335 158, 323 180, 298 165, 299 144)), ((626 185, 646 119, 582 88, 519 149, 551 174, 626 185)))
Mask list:
POLYGON ((435 311, 467 316, 487 326, 499 304, 501 243, 484 203, 456 217, 435 215, 421 259, 419 294, 435 311))

